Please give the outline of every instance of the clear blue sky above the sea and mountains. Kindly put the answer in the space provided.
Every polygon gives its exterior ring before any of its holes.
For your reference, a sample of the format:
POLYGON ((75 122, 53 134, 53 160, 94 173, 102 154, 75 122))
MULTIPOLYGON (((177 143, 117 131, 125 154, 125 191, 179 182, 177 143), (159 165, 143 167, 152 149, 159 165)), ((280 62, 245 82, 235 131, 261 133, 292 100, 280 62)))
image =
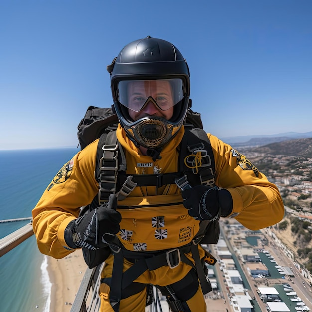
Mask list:
POLYGON ((311 0, 0 0, 0 149, 77 146, 127 43, 172 42, 220 138, 312 131, 311 0))

